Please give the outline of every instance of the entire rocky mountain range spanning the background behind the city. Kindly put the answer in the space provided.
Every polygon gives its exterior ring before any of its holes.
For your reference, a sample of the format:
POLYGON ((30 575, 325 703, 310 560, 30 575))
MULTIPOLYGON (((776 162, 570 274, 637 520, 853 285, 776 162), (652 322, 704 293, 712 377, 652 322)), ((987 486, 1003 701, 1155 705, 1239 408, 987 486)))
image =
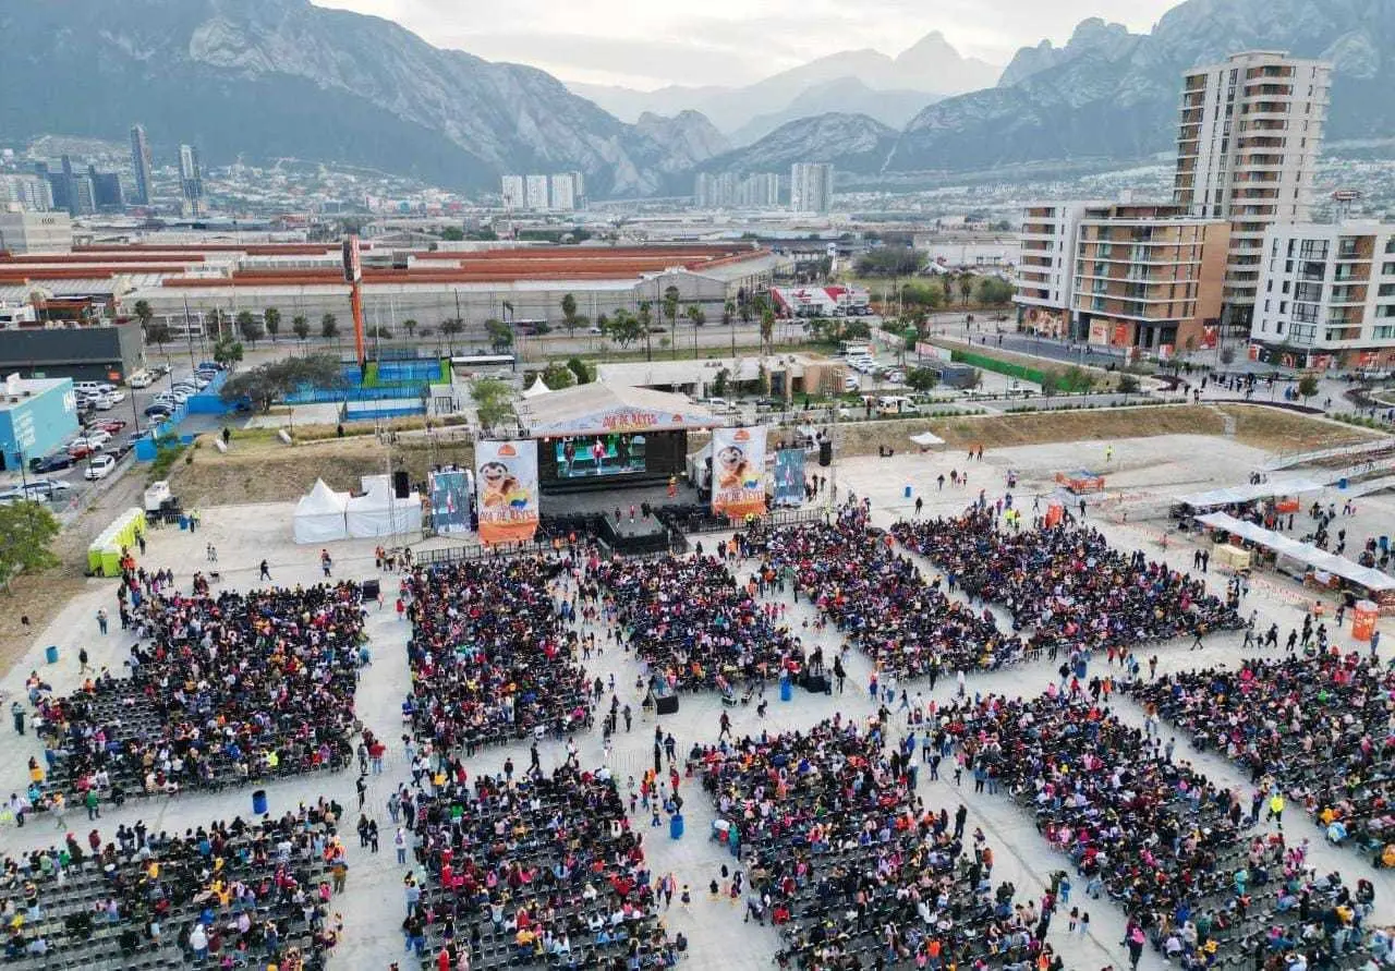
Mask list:
POLYGON ((650 92, 649 109, 308 0, 10 3, 0 35, 10 141, 124 138, 142 121, 166 158, 194 142, 209 165, 333 160, 466 191, 509 172, 580 170, 604 198, 795 160, 866 183, 1137 159, 1172 148, 1183 71, 1246 49, 1335 63, 1328 141, 1395 137, 1395 0, 1186 0, 1149 33, 1092 18, 1000 77, 929 35, 894 59, 854 50, 746 88, 650 92), (992 86, 949 93, 975 70, 992 86))

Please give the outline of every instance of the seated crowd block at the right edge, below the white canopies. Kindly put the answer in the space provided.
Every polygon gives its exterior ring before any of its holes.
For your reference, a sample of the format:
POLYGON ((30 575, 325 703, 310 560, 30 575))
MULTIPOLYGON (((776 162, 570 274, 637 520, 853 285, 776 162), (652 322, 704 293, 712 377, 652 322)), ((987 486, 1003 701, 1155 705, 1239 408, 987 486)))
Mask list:
POLYGON ((1395 866, 1395 672, 1357 653, 1249 658, 1130 688, 1159 717, 1302 802, 1332 843, 1395 866))

